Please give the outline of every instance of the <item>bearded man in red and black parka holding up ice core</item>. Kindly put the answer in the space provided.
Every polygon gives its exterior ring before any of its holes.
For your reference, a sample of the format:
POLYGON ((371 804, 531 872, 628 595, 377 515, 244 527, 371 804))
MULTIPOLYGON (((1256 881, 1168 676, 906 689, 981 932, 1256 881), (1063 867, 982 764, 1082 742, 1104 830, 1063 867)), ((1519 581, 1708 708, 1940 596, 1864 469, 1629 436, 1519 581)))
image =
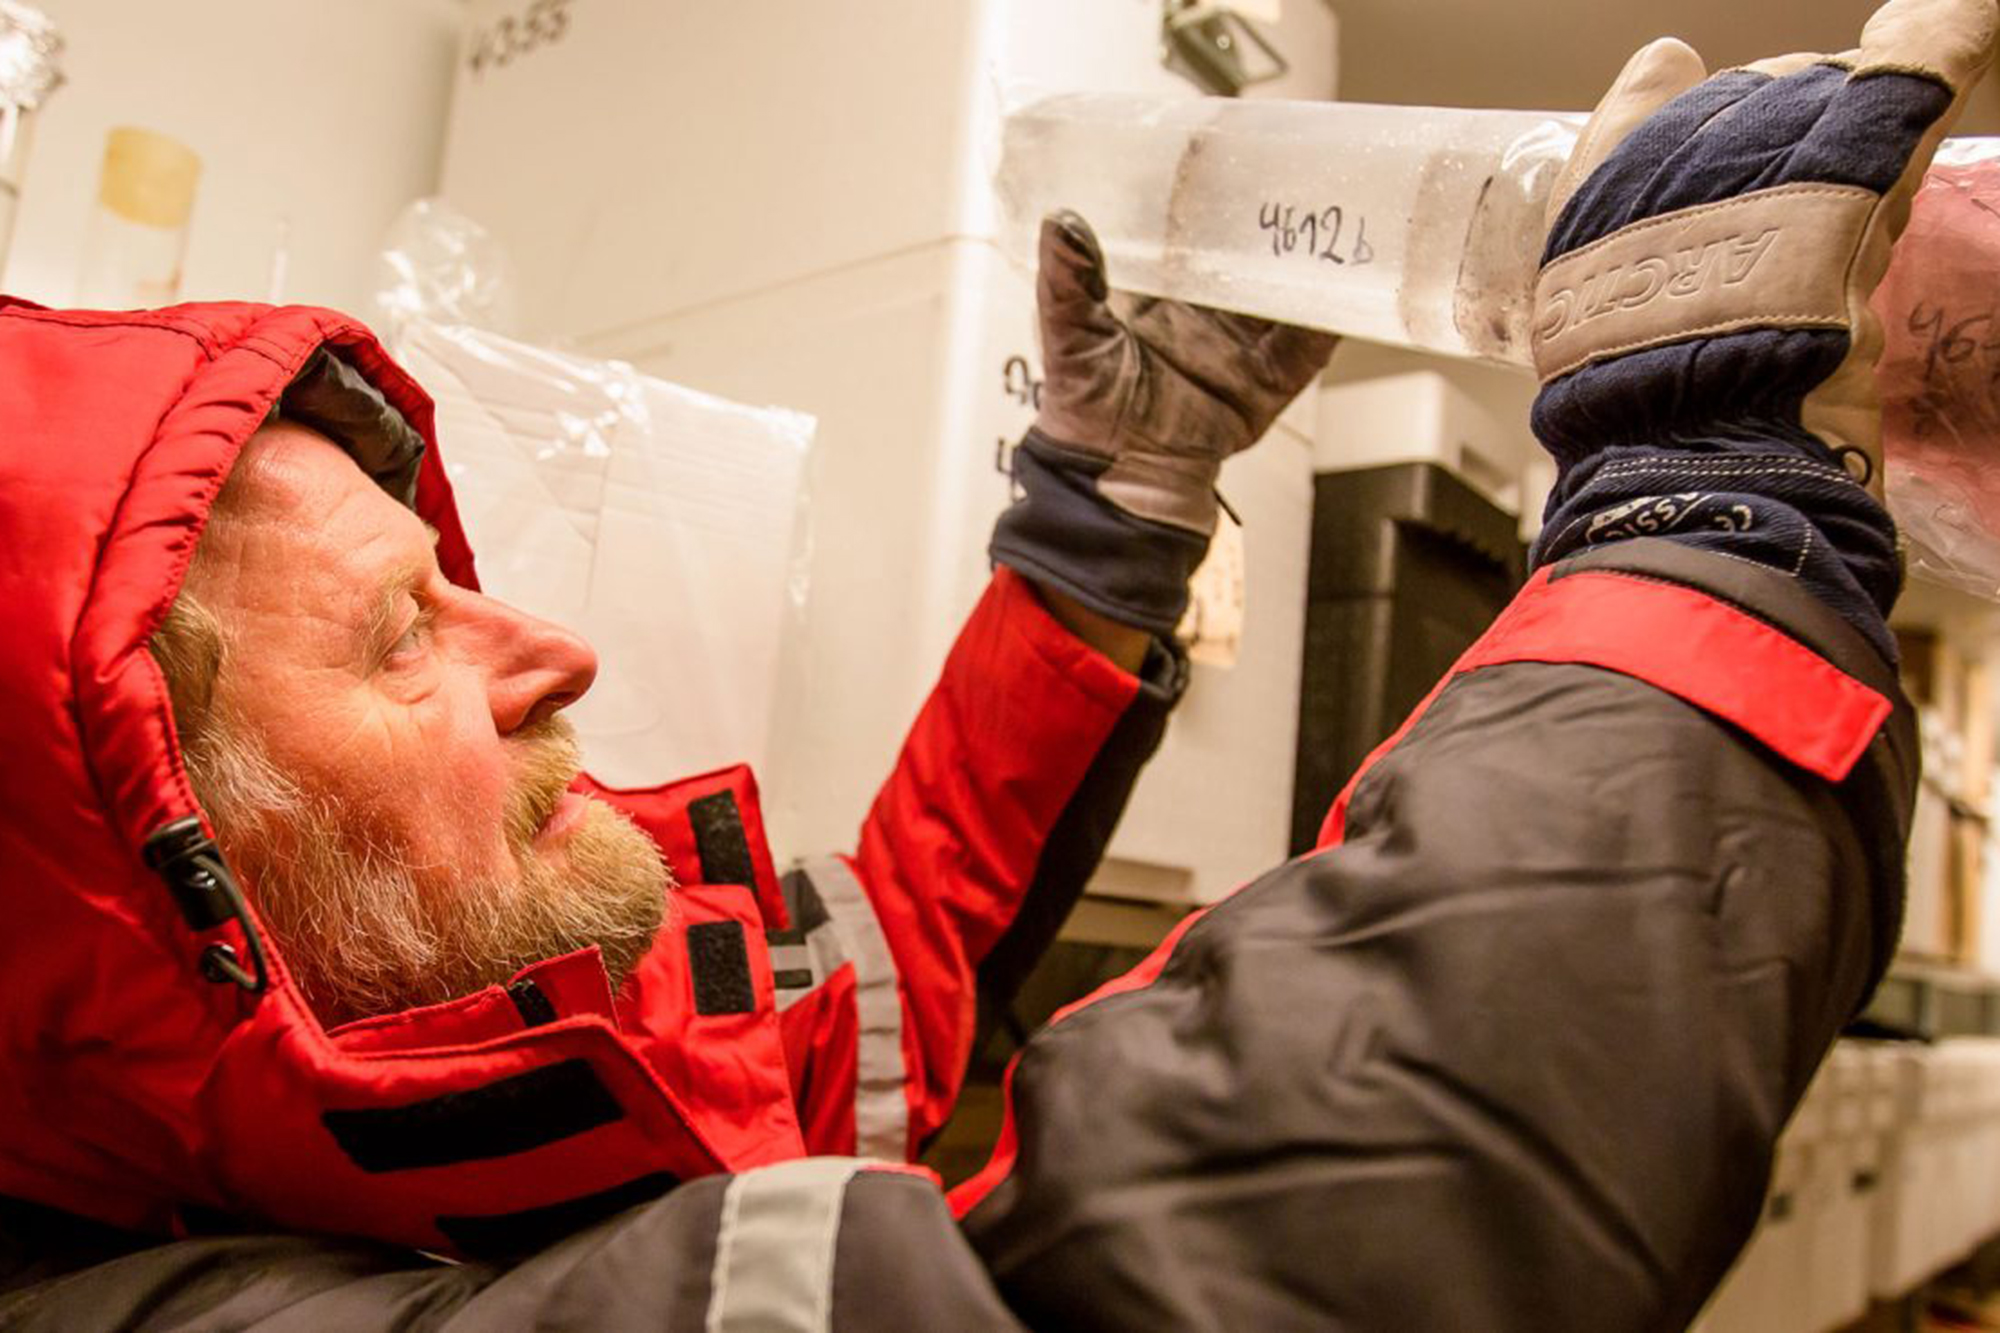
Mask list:
POLYGON ((1216 460, 1324 340, 1120 320, 1048 224, 1002 568, 856 857, 780 893, 742 775, 568 783, 588 650, 478 596, 422 396, 360 330, 0 312, 32 705, 0 1317, 1684 1323, 1894 947, 1868 294, 1994 22, 1894 0, 1840 58, 1632 60, 1536 296, 1542 568, 1316 855, 1030 1041, 950 1209, 802 1153, 894 1163, 944 1115, 974 975, 1046 941, 1158 737, 1216 460))

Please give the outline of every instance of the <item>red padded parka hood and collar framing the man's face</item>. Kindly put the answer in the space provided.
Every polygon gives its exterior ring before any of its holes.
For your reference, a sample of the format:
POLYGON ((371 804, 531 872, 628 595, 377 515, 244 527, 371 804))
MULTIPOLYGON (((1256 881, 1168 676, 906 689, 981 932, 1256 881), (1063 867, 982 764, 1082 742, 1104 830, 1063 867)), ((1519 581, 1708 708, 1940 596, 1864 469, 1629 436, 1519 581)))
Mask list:
MULTIPOLYGON (((430 400, 358 322, 0 300, 0 1195, 154 1231, 222 1211, 476 1251, 492 1219, 792 1151, 796 1125, 690 1123, 646 1035, 620 1033, 594 953, 528 969, 554 997, 532 1021, 494 987, 328 1035, 268 939, 254 985, 252 911, 188 907, 174 875, 206 831, 148 638, 280 402, 476 586, 430 400)), ((690 791, 720 787, 754 823, 748 775, 690 791)))

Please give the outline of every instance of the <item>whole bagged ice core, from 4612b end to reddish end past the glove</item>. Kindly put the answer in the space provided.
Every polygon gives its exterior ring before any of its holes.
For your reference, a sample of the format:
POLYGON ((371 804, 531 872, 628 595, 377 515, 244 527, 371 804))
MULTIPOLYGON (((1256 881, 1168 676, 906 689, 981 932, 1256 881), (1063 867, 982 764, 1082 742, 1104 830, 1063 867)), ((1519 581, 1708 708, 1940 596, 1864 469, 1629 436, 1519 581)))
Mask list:
MULTIPOLYGON (((1074 208, 1114 286, 1530 364, 1548 192, 1582 114, 1070 94, 1006 120, 1002 244, 1074 208)), ((2000 600, 2000 140, 1954 138, 1876 294, 1910 566, 2000 600)))

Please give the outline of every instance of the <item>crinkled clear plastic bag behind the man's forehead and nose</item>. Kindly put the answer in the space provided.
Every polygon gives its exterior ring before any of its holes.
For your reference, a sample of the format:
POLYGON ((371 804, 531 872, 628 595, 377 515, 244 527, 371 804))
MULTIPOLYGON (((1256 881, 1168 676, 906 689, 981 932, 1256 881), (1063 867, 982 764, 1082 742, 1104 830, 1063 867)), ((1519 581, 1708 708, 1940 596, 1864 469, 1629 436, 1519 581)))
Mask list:
POLYGON ((600 781, 764 767, 808 590, 812 418, 448 322, 504 302, 480 236, 436 202, 406 214, 384 310, 482 584, 596 646, 570 717, 600 781))

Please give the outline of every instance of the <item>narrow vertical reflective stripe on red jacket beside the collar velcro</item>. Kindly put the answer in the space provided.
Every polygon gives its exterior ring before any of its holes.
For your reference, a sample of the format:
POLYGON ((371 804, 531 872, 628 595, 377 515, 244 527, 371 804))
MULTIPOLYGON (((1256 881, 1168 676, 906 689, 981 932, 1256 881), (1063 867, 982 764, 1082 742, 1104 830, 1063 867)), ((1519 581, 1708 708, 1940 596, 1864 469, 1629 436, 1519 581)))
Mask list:
POLYGON ((896 959, 882 937, 868 891, 838 857, 808 861, 812 887, 826 905, 840 951, 854 963, 854 1015, 860 1023, 854 1077, 854 1151, 908 1161, 910 1103, 902 1067, 902 997, 896 959))

